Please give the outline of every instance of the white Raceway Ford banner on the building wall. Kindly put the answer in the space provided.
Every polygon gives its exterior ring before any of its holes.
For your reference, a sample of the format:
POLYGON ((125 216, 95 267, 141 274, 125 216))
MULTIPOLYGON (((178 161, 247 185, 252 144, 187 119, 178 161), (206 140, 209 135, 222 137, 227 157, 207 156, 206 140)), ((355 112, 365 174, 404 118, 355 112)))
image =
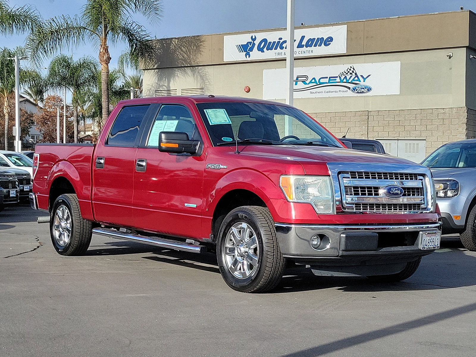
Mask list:
MULTIPOLYGON (((263 99, 286 98, 287 72, 263 70, 263 99)), ((339 64, 294 69, 294 98, 400 94, 400 62, 339 64)))

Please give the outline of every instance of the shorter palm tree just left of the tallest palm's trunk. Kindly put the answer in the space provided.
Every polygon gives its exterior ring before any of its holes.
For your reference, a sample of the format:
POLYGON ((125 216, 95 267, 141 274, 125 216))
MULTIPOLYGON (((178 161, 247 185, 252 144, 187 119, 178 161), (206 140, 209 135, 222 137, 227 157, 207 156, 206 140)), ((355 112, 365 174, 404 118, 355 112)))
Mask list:
POLYGON ((92 57, 73 60, 72 57, 60 55, 50 62, 47 83, 50 88, 66 88, 72 93, 74 142, 78 142, 78 105, 79 92, 92 89, 98 73, 97 61, 92 57))

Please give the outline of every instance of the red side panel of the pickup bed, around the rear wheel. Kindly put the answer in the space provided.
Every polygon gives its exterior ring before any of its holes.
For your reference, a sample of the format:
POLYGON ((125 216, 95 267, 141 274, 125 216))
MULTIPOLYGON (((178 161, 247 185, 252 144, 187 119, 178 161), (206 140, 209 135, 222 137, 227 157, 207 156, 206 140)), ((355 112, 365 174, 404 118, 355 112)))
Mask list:
POLYGON ((81 215, 94 219, 91 207, 91 144, 39 144, 35 153, 40 154, 38 170, 33 180, 41 209, 49 209, 50 188, 53 182, 66 178, 73 186, 79 200, 81 215))

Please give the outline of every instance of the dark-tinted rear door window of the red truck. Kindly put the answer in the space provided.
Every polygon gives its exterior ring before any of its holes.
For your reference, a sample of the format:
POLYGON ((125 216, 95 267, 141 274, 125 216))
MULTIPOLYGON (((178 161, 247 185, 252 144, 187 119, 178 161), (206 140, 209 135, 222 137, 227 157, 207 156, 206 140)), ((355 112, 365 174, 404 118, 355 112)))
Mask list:
POLYGON ((109 132, 108 145, 134 146, 140 123, 149 109, 149 105, 133 105, 124 107, 112 124, 109 132))

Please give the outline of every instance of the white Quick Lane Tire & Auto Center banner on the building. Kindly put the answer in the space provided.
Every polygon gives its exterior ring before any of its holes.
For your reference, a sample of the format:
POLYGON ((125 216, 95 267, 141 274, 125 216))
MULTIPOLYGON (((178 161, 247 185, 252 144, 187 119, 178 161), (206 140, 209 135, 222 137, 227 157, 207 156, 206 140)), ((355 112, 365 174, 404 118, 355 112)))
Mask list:
MULTIPOLYGON (((347 25, 294 31, 294 56, 347 52, 347 25)), ((243 33, 223 39, 223 60, 263 60, 286 57, 286 31, 243 33)))

